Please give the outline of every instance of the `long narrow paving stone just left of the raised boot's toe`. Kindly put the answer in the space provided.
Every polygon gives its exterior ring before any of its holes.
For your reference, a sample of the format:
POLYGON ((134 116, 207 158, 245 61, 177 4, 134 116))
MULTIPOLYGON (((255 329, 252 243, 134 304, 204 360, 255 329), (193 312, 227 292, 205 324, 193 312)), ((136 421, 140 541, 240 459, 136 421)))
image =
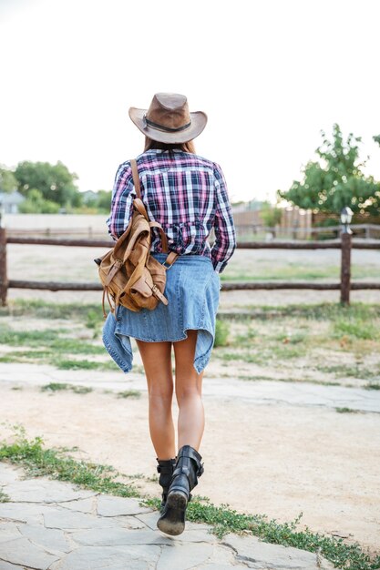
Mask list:
POLYGON ((173 539, 159 532, 149 530, 127 530, 125 528, 92 528, 88 531, 70 533, 78 545, 171 545, 173 539))

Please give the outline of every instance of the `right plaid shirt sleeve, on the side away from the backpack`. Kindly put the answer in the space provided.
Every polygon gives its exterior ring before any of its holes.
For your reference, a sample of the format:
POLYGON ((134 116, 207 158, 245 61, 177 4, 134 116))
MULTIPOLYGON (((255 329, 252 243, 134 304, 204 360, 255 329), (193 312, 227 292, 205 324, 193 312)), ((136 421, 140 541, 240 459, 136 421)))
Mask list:
POLYGON ((211 260, 214 270, 221 273, 236 248, 236 235, 226 181, 221 167, 217 164, 214 164, 214 176, 216 189, 215 241, 211 248, 211 260))

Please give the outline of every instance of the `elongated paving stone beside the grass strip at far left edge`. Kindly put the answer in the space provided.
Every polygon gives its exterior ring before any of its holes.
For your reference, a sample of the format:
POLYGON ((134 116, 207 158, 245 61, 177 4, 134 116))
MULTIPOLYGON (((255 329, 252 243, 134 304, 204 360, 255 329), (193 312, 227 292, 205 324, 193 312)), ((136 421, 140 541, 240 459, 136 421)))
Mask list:
POLYGON ((84 499, 95 493, 85 489, 76 490, 70 483, 52 481, 46 477, 15 481, 6 485, 6 494, 12 501, 24 503, 59 503, 84 499))

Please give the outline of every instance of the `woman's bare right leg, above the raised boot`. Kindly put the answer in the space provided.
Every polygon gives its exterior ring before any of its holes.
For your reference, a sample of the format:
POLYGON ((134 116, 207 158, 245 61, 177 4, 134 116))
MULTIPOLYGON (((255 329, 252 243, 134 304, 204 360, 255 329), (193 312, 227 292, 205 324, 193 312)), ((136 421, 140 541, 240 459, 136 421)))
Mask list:
POLYGON ((201 400, 203 372, 194 368, 197 331, 188 331, 188 338, 174 342, 176 361, 176 398, 180 408, 178 446, 191 445, 196 450, 204 431, 204 409, 201 400))

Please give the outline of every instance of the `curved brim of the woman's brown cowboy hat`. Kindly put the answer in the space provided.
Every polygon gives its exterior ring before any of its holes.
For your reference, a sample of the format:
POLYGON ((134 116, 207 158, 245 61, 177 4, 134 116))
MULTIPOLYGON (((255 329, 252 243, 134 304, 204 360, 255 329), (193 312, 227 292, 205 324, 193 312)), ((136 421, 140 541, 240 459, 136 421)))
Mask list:
POLYGON ((131 121, 139 128, 141 133, 152 140, 157 140, 163 143, 185 143, 189 142, 195 137, 198 137, 203 128, 206 127, 207 115, 202 111, 195 111, 190 113, 191 124, 185 130, 177 133, 167 133, 158 128, 149 127, 144 121, 148 109, 138 109, 136 107, 129 108, 129 117, 131 121))

